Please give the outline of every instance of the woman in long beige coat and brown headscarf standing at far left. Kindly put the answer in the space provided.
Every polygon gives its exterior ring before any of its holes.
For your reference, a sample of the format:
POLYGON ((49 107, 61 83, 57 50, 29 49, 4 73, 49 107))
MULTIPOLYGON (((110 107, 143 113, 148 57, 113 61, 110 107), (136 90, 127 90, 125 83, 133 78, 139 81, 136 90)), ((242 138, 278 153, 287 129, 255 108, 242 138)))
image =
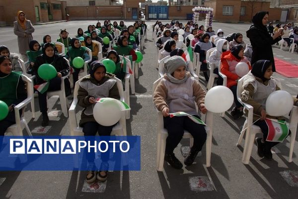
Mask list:
POLYGON ((29 50, 29 43, 33 40, 34 27, 31 21, 26 19, 23 11, 18 11, 16 17, 17 20, 13 22, 13 32, 17 36, 19 53, 25 56, 26 51, 29 50))

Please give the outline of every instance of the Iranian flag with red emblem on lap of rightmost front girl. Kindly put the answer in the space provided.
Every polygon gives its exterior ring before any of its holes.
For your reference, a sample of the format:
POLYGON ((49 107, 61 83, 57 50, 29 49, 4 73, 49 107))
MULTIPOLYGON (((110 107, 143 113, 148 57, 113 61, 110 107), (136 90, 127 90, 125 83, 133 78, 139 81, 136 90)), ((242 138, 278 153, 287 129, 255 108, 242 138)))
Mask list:
POLYGON ((265 119, 269 132, 266 141, 283 142, 289 134, 289 127, 284 120, 265 119))

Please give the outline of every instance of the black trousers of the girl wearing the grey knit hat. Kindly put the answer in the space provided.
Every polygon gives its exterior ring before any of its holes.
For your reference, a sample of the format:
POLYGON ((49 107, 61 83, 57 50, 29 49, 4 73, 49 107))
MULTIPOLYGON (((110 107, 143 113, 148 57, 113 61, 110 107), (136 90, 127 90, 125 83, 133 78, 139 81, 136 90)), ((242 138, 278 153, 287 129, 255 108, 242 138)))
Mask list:
MULTIPOLYGON (((199 116, 195 115, 199 118, 199 116)), ((194 138, 193 149, 202 150, 207 139, 207 133, 204 125, 197 124, 188 116, 163 117, 164 128, 168 130, 166 138, 165 153, 173 153, 183 137, 184 130, 187 130, 194 138)))

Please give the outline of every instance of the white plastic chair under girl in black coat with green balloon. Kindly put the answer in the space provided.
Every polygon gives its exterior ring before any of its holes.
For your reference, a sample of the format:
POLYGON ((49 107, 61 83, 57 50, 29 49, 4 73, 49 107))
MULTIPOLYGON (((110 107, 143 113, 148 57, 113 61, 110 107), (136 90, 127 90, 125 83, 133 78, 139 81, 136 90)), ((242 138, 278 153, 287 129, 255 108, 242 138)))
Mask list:
MULTIPOLYGON (((65 58, 65 60, 67 60, 67 59, 65 58)), ((68 62, 69 67, 71 67, 68 60, 67 60, 67 62, 68 62)), ((68 107, 70 107, 70 104, 69 104, 69 101, 67 100, 66 95, 65 95, 64 80, 66 78, 68 78, 69 76, 70 76, 70 74, 68 74, 68 75, 61 78, 61 90, 59 90, 59 91, 48 91, 47 92, 47 97, 59 96, 59 100, 60 100, 60 104, 61 104, 61 110, 62 110, 65 117, 68 117, 68 107)))

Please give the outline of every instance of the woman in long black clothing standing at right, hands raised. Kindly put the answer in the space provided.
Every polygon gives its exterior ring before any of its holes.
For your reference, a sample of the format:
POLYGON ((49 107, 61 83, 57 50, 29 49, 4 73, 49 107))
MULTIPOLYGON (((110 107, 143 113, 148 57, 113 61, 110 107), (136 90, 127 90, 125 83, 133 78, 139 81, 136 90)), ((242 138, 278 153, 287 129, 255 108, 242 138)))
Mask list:
POLYGON ((273 36, 270 36, 267 29, 269 12, 257 12, 253 18, 253 24, 246 31, 252 45, 251 64, 258 60, 269 60, 272 63, 272 71, 275 72, 274 56, 272 45, 280 41, 283 35, 282 29, 279 29, 273 36))

